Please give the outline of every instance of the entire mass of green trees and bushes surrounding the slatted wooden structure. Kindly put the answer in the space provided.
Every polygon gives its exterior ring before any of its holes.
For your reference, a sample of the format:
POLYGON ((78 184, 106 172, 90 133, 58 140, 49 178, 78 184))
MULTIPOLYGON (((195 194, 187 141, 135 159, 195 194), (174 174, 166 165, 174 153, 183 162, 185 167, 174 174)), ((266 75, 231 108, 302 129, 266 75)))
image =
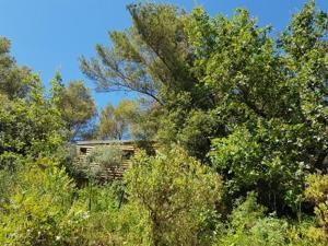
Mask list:
POLYGON ((117 147, 92 151, 87 184, 68 176, 91 93, 56 73, 46 95, 0 39, 0 245, 327 245, 327 13, 308 1, 274 39, 243 9, 128 11, 113 48, 81 59, 99 91, 147 96, 107 105, 89 133, 164 147, 121 181, 97 179, 117 147))

